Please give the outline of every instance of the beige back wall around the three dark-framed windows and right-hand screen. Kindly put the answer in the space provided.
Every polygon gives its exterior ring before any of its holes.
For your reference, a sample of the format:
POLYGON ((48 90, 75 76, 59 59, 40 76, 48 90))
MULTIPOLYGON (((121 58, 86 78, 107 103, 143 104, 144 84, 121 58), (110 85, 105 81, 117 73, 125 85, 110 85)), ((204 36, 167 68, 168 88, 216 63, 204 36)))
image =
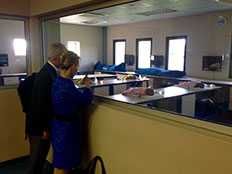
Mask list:
POLYGON ((136 54, 136 38, 153 38, 152 54, 165 55, 167 36, 187 35, 187 75, 212 78, 212 72, 202 71, 203 55, 222 55, 226 58, 223 71, 215 73, 217 79, 227 79, 231 39, 232 12, 210 13, 198 16, 153 20, 140 23, 112 26, 108 28, 108 63, 113 62, 112 40, 126 39, 127 54, 136 54), (224 27, 216 24, 218 16, 225 16, 228 23, 224 27))

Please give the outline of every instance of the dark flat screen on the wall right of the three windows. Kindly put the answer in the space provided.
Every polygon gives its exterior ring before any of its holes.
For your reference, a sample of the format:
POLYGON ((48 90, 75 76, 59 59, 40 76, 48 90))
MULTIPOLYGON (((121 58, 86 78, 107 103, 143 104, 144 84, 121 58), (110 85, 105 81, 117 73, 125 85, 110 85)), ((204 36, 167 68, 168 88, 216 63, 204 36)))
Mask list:
POLYGON ((203 71, 222 71, 222 56, 203 56, 203 71))

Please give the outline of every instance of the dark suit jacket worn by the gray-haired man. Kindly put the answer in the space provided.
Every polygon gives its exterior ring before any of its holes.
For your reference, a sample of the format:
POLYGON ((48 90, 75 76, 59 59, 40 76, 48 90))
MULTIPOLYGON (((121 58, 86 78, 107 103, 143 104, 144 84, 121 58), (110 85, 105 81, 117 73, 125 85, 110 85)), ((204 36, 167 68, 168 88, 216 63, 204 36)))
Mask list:
POLYGON ((45 64, 35 79, 32 92, 32 126, 31 134, 40 136, 43 131, 50 130, 54 116, 52 108, 51 88, 56 78, 56 71, 50 64, 45 64))

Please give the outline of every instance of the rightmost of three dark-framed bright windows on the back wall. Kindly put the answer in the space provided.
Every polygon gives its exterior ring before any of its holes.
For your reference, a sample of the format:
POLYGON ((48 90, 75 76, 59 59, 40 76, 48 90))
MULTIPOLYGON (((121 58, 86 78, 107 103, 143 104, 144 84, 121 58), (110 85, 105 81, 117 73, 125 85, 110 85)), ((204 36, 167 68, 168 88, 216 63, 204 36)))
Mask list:
POLYGON ((167 38, 167 60, 168 70, 185 71, 187 37, 168 37, 167 38))

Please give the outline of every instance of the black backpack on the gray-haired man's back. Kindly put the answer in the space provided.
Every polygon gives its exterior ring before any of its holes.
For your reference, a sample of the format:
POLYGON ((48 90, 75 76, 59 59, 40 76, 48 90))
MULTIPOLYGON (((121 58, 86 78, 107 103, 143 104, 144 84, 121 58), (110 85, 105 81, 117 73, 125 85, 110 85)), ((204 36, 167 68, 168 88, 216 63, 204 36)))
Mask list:
POLYGON ((35 78, 36 78, 36 73, 32 73, 31 75, 27 76, 25 80, 19 83, 17 89, 20 102, 22 105, 22 110, 26 115, 30 113, 31 96, 32 96, 32 90, 33 90, 35 78))

